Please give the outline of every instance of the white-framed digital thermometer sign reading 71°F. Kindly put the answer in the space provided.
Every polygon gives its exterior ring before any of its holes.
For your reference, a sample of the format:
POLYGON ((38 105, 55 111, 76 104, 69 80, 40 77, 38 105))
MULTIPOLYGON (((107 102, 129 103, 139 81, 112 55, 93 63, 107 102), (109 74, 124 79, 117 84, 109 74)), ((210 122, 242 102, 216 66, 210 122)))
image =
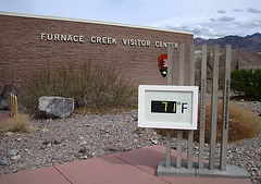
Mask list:
POLYGON ((139 127, 197 130, 197 120, 198 86, 139 86, 139 127))

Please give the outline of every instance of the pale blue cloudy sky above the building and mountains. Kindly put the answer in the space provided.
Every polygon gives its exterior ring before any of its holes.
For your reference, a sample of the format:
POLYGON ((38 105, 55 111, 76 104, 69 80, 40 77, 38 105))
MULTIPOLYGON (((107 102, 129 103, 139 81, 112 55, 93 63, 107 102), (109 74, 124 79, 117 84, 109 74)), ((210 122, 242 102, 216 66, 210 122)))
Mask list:
POLYGON ((170 28, 204 39, 261 33, 260 0, 0 0, 0 11, 170 28))

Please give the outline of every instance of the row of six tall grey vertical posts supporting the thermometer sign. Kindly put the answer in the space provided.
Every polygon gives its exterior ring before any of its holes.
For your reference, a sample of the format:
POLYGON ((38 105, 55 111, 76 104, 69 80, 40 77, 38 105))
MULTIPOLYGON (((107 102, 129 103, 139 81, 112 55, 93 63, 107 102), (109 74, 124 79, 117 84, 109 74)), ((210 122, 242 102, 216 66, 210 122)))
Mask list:
MULTIPOLYGON (((190 46, 190 71, 189 85, 195 85, 195 45, 190 46)), ((229 111, 229 85, 231 85, 231 45, 225 46, 224 61, 224 82, 223 82, 223 110, 222 110, 222 138, 220 152, 220 171, 226 171, 226 154, 227 154, 227 134, 228 134, 228 111, 229 111)), ((167 85, 173 85, 172 65, 173 65, 173 48, 167 48, 167 85)), ((185 46, 179 46, 179 75, 178 85, 184 85, 184 63, 185 63, 185 46)), ((198 162, 192 162, 192 143, 194 131, 188 132, 188 149, 186 169, 197 170, 216 170, 215 148, 216 148, 216 118, 217 118, 217 90, 219 90, 219 64, 220 64, 220 46, 215 45, 213 50, 213 70, 212 70, 212 94, 211 94, 211 137, 210 137, 210 158, 206 167, 204 160, 204 132, 206 132, 206 91, 207 91, 207 46, 202 46, 201 51, 201 79, 200 79, 200 121, 199 121, 199 156, 198 162)), ((177 130, 176 161, 175 169, 182 168, 182 136, 183 131, 177 130)), ((166 131, 166 159, 165 168, 171 168, 171 130, 166 131)))

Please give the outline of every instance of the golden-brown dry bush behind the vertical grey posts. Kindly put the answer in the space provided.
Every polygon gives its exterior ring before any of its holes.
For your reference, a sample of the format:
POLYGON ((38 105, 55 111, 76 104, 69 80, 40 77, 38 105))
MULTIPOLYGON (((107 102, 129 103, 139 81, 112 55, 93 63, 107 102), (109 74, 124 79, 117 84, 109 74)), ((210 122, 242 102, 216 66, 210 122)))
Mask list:
MULTIPOLYGON (((199 106, 200 112, 200 106, 199 106)), ((195 131, 194 139, 199 142, 199 119, 198 128, 195 131)), ((222 101, 217 103, 217 120, 216 120, 216 140, 221 140, 222 132, 222 101)), ((257 113, 249 109, 244 109, 234 102, 229 102, 229 121, 228 121, 228 142, 236 142, 245 138, 252 138, 259 133, 260 118, 257 113)), ((211 125, 211 102, 206 102, 206 132, 204 142, 210 143, 210 125, 211 125)), ((165 130, 157 128, 156 132, 165 136, 165 130)), ((183 138, 187 138, 188 131, 183 131, 183 138)), ((172 132, 172 136, 176 137, 176 132, 172 132)))

